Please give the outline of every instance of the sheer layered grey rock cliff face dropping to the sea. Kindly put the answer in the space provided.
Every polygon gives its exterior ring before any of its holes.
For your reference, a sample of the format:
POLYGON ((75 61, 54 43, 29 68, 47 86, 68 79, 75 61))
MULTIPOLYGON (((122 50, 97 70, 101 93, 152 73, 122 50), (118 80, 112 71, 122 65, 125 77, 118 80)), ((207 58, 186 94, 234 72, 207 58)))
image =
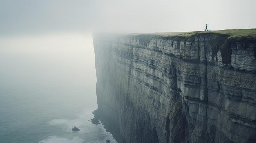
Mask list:
POLYGON ((256 42, 218 36, 94 35, 97 114, 119 143, 256 142, 256 42))

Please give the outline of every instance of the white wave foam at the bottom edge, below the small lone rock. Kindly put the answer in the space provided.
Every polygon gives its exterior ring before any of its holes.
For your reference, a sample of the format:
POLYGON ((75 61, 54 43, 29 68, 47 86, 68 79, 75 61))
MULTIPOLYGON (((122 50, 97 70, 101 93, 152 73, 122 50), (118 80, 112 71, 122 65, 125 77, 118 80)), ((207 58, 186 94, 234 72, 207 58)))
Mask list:
POLYGON ((84 140, 79 137, 73 137, 72 139, 62 138, 58 136, 49 136, 47 139, 39 141, 39 143, 83 143, 84 140))

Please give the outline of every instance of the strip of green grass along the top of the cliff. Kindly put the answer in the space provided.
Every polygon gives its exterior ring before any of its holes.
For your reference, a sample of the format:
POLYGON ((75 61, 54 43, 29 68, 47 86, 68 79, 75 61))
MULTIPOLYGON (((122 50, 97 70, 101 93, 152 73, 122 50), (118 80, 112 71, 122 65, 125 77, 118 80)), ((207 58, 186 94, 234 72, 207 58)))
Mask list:
POLYGON ((194 32, 164 32, 164 33, 134 33, 133 36, 138 35, 151 35, 157 37, 192 37, 195 35, 204 34, 217 34, 227 35, 228 39, 255 39, 256 40, 256 29, 230 29, 230 30, 218 30, 218 31, 194 31, 194 32))

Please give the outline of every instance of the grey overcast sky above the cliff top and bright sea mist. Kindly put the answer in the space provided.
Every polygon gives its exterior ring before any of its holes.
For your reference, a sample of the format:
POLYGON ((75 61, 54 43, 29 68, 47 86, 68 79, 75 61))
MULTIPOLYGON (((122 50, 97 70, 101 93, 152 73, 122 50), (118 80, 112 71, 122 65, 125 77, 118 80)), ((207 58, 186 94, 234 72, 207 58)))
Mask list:
POLYGON ((256 28, 256 0, 0 0, 0 36, 256 28))

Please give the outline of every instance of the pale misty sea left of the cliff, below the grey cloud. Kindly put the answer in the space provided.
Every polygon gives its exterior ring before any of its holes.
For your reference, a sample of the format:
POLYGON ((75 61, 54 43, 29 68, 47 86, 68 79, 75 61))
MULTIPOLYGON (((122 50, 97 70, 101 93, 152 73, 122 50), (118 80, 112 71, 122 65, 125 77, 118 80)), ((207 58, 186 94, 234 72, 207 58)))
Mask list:
POLYGON ((0 143, 114 142, 90 121, 95 85, 90 34, 0 39, 0 143))

